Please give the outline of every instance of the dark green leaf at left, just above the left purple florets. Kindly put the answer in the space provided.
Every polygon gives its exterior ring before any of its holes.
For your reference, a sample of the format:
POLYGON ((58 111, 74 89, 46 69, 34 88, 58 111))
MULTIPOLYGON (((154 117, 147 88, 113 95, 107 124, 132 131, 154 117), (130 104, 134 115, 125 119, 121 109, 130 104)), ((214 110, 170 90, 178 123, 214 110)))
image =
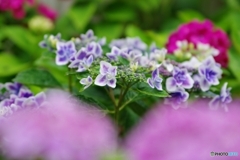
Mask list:
POLYGON ((13 80, 25 85, 61 87, 61 84, 48 71, 40 69, 28 69, 20 72, 13 80))

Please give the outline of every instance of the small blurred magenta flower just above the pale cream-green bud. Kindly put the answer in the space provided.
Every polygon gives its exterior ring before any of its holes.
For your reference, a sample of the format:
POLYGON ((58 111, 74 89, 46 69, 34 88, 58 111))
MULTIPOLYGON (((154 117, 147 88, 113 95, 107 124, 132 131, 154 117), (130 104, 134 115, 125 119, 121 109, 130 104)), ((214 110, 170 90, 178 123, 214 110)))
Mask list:
POLYGON ((37 9, 41 15, 51 19, 52 21, 56 20, 57 12, 55 10, 53 10, 52 8, 49 8, 48 6, 46 6, 44 4, 39 4, 37 9))

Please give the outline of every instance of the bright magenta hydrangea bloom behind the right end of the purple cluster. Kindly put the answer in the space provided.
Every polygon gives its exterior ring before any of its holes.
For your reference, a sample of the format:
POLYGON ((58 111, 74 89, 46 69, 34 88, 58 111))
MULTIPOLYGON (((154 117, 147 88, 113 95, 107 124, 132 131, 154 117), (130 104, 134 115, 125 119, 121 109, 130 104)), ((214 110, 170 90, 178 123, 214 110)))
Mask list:
POLYGON ((199 22, 194 20, 181 25, 168 39, 166 44, 168 52, 173 53, 177 49, 176 42, 183 40, 193 43, 195 47, 198 43, 205 43, 219 50, 219 54, 214 58, 222 67, 227 67, 227 51, 230 47, 230 41, 224 31, 214 28, 211 21, 199 22))

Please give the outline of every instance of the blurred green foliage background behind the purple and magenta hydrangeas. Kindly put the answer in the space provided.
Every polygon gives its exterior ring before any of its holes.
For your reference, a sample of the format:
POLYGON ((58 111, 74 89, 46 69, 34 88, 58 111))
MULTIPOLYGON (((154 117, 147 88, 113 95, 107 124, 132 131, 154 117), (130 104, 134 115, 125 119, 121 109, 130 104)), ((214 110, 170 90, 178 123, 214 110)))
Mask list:
POLYGON ((11 81, 28 68, 43 68, 61 84, 67 83, 63 74, 66 68, 56 66, 38 45, 44 34, 61 33, 64 39, 70 39, 93 29, 97 36, 108 41, 138 36, 147 44, 155 42, 164 47, 168 36, 182 23, 210 19, 231 39, 230 63, 222 82, 228 81, 234 95, 240 95, 238 0, 75 0, 49 31, 29 27, 34 16, 32 9, 28 9, 22 20, 0 13, 0 82, 11 81))

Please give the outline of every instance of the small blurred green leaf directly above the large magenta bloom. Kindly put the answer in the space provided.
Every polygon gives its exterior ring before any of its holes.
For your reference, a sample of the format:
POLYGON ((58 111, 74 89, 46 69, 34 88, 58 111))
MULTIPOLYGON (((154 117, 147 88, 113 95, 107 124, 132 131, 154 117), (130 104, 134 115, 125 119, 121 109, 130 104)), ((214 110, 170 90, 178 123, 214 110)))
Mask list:
POLYGON ((189 22, 192 21, 193 19, 198 19, 198 20, 204 20, 204 16, 195 11, 195 10, 183 10, 179 11, 178 13, 179 19, 181 19, 183 22, 189 22))

